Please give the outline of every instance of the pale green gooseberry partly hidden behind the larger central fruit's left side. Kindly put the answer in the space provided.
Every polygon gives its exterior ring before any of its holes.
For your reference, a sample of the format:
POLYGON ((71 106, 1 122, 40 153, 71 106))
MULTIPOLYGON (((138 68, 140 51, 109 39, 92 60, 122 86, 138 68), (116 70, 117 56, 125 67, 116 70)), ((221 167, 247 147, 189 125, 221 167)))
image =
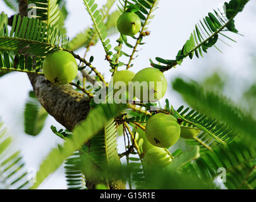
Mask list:
MULTIPOLYGON (((128 90, 129 90, 129 82, 133 81, 134 76, 135 76, 135 73, 133 73, 133 71, 129 71, 129 70, 117 71, 113 76, 113 85, 117 85, 116 87, 118 87, 118 89, 114 89, 114 94, 123 88, 122 90, 125 90, 125 91, 121 92, 119 97, 125 94, 125 97, 127 99, 131 98, 131 100, 133 100, 133 96, 129 95, 128 90), (119 86, 119 83, 118 83, 119 81, 123 82, 123 86, 119 86), (126 88, 124 89, 125 86, 126 88)), ((132 83, 130 83, 130 85, 132 88, 132 83)))

